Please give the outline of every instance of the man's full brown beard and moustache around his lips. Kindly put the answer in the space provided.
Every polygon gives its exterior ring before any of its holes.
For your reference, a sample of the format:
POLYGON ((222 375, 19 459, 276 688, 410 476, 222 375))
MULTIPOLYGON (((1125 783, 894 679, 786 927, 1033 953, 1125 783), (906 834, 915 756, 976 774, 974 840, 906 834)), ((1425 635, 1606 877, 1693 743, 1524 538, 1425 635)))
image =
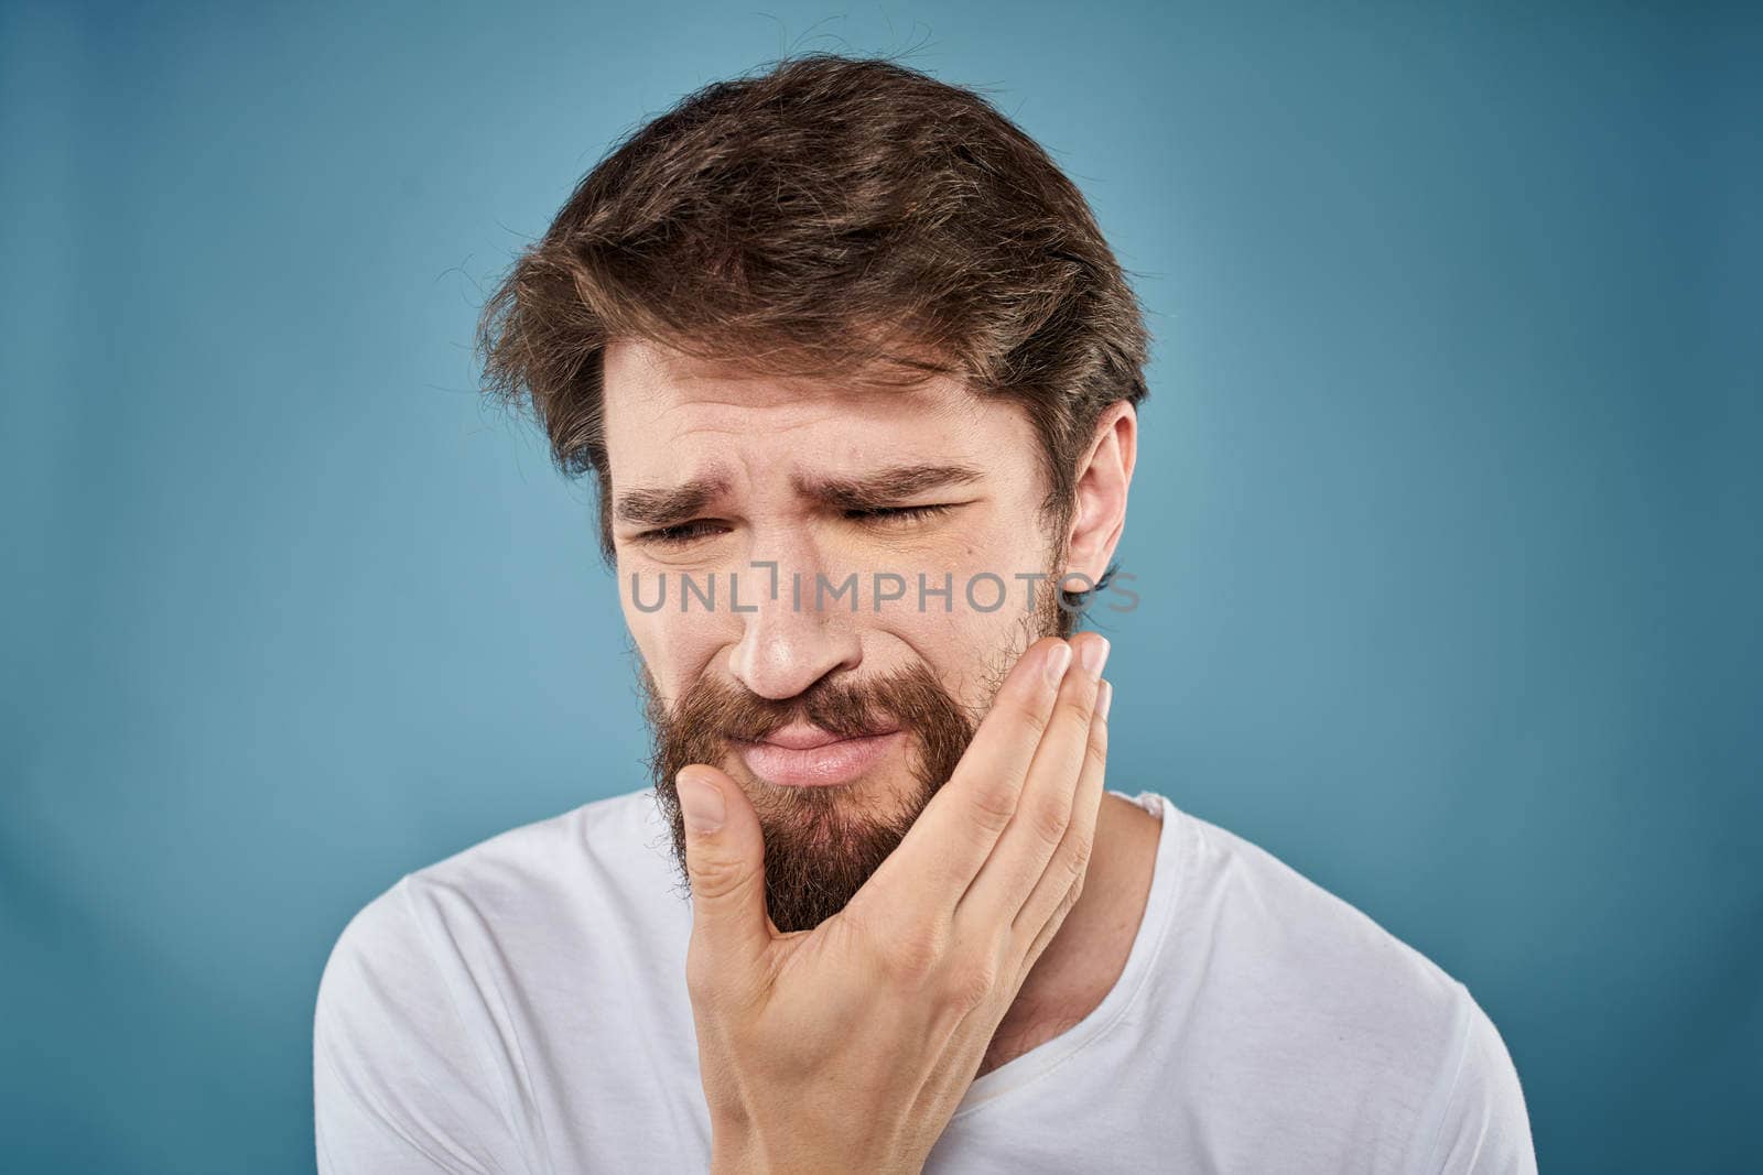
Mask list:
MULTIPOLYGON (((948 782, 1003 684, 1008 668, 1040 636, 1068 629, 1051 594, 1015 627, 1015 643, 987 666, 982 706, 961 706, 922 661, 871 680, 823 676, 788 699, 760 698, 739 684, 702 676, 670 706, 640 666, 643 712, 654 740, 649 759, 656 803, 672 830, 673 860, 689 893, 686 823, 673 777, 691 763, 728 773, 737 742, 758 742, 792 722, 837 738, 899 729, 908 738, 908 791, 864 794, 862 782, 834 787, 742 791, 765 840, 765 909, 777 930, 813 930, 857 895, 911 830, 931 796, 948 782)), ((740 772, 744 773, 744 772, 740 772)), ((737 780, 739 782, 739 780, 737 780)))

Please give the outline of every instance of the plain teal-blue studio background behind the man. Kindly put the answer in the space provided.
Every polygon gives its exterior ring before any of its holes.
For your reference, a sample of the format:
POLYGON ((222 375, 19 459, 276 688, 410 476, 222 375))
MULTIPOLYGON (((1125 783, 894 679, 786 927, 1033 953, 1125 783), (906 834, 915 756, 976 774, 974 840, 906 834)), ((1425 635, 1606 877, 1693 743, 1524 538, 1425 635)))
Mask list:
POLYGON ((0 11, 0 1164, 310 1170, 349 914, 645 784, 480 299, 688 90, 910 49, 1153 312, 1111 786, 1463 979, 1544 1170, 1758 1170, 1756 11, 368 7, 0 11))

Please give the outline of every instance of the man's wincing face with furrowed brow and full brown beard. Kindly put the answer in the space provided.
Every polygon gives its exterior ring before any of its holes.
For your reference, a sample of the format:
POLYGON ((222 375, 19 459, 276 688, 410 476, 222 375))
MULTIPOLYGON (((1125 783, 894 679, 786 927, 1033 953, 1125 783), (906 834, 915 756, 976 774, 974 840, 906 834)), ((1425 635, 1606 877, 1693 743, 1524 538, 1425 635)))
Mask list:
POLYGON ((947 377, 777 381, 638 342, 606 349, 605 437, 681 865, 673 773, 709 763, 758 812, 772 920, 813 927, 1054 631, 1040 442, 1021 407, 947 377))

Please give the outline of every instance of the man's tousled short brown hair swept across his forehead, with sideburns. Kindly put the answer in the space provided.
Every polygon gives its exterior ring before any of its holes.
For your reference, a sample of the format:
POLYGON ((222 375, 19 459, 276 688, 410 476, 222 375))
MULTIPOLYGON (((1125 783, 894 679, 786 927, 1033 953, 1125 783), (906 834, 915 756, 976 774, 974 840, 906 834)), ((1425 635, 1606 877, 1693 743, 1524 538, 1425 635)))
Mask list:
POLYGON ((478 324, 485 388, 594 472, 601 354, 645 338, 774 375, 940 372, 1024 405, 1068 520, 1102 410, 1146 396, 1144 315, 1090 206, 986 99, 885 58, 804 55, 636 129, 575 188, 478 324))

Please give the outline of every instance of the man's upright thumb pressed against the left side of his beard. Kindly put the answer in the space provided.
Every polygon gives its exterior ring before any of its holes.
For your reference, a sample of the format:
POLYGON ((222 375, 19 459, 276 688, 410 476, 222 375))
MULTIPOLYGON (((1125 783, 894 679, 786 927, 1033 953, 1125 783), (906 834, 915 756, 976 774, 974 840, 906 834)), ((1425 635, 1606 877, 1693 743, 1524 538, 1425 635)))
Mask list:
POLYGON ((673 786, 686 823, 693 946, 721 972, 758 958, 770 942, 760 817, 740 786, 714 766, 682 768, 673 786))

